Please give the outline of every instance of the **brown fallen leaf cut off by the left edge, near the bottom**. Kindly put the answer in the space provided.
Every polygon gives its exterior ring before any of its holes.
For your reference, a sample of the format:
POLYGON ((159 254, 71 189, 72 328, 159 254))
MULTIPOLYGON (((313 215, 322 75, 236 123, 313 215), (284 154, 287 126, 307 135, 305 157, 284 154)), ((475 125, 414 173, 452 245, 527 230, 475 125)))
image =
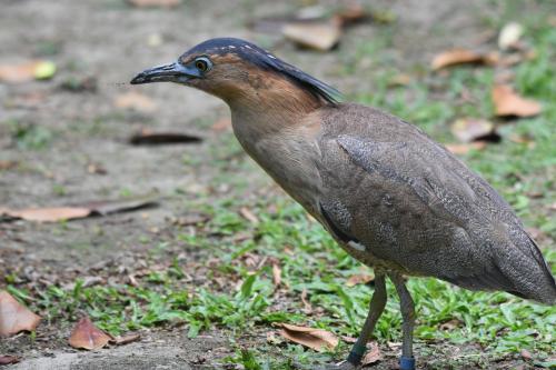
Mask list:
POLYGON ((33 331, 40 317, 29 311, 7 291, 0 290, 0 337, 8 337, 20 331, 33 331))

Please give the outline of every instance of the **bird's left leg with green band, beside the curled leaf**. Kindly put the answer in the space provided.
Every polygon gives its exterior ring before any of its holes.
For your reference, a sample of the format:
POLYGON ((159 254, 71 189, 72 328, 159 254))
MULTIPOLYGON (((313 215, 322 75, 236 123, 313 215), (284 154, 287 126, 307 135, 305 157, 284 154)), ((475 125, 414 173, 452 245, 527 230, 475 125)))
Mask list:
POLYGON ((375 330, 375 326, 383 314, 384 308, 386 306, 386 283, 384 273, 376 273, 375 276, 375 292, 370 299, 369 313, 365 320, 359 338, 351 348, 351 352, 347 358, 347 362, 353 366, 358 366, 361 363, 363 356, 367 350, 367 342, 375 330))

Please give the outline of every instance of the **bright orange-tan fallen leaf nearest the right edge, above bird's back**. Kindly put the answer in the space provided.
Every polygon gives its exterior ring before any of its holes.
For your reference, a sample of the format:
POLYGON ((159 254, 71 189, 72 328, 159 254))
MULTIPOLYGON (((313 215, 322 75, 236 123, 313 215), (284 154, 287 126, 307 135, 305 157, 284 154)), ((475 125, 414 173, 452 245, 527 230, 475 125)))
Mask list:
POLYGON ((522 98, 508 84, 497 84, 493 88, 493 102, 498 117, 533 117, 543 110, 540 103, 522 98))

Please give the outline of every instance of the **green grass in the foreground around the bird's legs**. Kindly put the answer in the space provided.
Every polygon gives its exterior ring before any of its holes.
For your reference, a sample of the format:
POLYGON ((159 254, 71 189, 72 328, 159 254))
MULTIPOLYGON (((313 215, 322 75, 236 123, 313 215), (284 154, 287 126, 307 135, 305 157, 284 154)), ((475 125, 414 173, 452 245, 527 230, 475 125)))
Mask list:
MULTIPOLYGON (((181 234, 197 248, 209 249, 211 257, 219 259, 217 268, 208 276, 239 282, 237 289, 220 290, 185 283, 185 272, 175 260, 162 271, 152 271, 139 279, 140 286, 111 284, 83 288, 78 280, 72 289, 50 286, 44 291, 9 291, 33 309, 46 314, 48 321, 75 321, 87 312, 101 328, 120 333, 143 327, 168 323, 187 323, 188 334, 197 336, 202 330, 221 328, 231 338, 239 338, 251 330, 268 331, 272 322, 291 322, 319 327, 337 334, 356 337, 367 308, 371 290, 367 286, 346 287, 347 278, 360 272, 360 264, 335 246, 330 237, 304 210, 290 201, 271 199, 278 204, 275 213, 265 212, 267 204, 255 209, 261 222, 252 227, 235 211, 240 203, 208 208, 214 214, 205 234, 190 237, 181 234), (218 232, 218 243, 214 236, 218 232), (232 241, 238 232, 250 232, 252 238, 240 243, 232 241), (285 252, 285 246, 292 246, 295 254, 285 252), (269 264, 254 270, 242 263, 247 254, 276 258, 282 269, 282 283, 289 287, 288 304, 280 307, 274 293, 272 272, 269 264), (301 291, 307 290, 314 308, 321 308, 318 318, 301 312, 301 291)), ((545 254, 549 262, 556 262, 556 252, 545 254)), ((9 277, 14 282, 14 277, 9 277)), ((234 284, 231 284, 234 286, 234 284)), ((553 328, 556 310, 523 301, 507 293, 470 292, 435 279, 413 279, 409 290, 416 301, 418 342, 431 347, 441 341, 451 343, 479 343, 493 356, 518 352, 527 349, 544 358, 554 348, 553 328), (439 330, 441 323, 457 320, 450 330, 439 330)), ((380 342, 400 340, 400 314, 398 300, 391 284, 388 284, 389 301, 381 317, 376 336, 380 342)), ((256 350, 257 358, 272 354, 272 366, 284 366, 291 360, 301 363, 339 360, 348 350, 342 344, 335 353, 316 354, 294 344, 265 344, 256 350)), ((238 357, 245 351, 238 347, 238 357)), ((262 366, 262 364, 261 364, 262 366)))

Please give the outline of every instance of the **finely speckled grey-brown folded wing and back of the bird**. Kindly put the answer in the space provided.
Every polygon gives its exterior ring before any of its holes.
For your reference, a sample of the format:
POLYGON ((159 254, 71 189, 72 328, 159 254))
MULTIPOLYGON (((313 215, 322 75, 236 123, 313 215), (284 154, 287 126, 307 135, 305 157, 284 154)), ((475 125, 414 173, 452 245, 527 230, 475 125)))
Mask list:
POLYGON ((405 273, 555 301, 554 278, 512 208, 444 147, 371 108, 320 114, 320 203, 337 239, 405 273))

